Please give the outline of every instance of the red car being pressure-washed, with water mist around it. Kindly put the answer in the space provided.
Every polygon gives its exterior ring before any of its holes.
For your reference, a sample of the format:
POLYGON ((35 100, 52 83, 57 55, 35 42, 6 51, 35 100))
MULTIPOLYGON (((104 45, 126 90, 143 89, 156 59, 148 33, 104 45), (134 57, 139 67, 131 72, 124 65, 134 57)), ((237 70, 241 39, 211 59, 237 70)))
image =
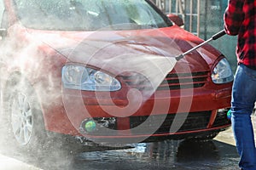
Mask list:
POLYGON ((207 44, 173 62, 203 40, 149 0, 0 2, 1 116, 21 148, 49 132, 137 143, 230 127, 227 59, 207 44))

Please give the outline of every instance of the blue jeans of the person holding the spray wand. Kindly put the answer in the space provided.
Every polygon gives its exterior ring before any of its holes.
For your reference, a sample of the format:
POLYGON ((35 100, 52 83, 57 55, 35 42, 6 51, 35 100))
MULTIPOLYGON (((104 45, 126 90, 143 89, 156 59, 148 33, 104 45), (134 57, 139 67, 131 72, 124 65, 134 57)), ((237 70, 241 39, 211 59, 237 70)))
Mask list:
POLYGON ((256 71, 245 65, 238 65, 233 84, 231 100, 231 122, 240 155, 239 167, 256 170, 256 149, 254 144, 251 115, 256 100, 256 71))

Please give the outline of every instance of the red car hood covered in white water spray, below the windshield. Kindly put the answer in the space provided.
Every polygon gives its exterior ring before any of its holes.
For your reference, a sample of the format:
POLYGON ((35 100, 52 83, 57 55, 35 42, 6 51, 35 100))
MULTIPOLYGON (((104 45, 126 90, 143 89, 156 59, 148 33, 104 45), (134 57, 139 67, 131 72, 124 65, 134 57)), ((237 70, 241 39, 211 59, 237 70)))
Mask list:
POLYGON ((39 35, 40 41, 67 57, 68 63, 90 65, 114 76, 135 71, 146 77, 164 78, 170 71, 209 71, 220 55, 207 44, 183 59, 174 59, 202 42, 177 26, 140 31, 30 33, 33 38, 39 35))

